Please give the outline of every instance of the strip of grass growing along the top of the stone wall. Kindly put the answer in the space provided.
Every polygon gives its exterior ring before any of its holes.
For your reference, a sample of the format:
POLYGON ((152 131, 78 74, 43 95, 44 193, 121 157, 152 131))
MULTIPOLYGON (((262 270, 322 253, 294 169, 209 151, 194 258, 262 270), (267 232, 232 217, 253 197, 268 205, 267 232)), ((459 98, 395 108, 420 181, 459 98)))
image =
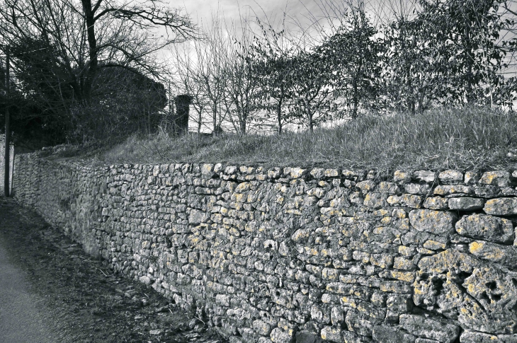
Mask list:
POLYGON ((479 107, 438 109, 424 114, 360 117, 314 133, 258 136, 166 132, 131 136, 98 153, 94 161, 113 163, 204 162, 266 166, 328 166, 402 169, 517 168, 517 115, 479 107))

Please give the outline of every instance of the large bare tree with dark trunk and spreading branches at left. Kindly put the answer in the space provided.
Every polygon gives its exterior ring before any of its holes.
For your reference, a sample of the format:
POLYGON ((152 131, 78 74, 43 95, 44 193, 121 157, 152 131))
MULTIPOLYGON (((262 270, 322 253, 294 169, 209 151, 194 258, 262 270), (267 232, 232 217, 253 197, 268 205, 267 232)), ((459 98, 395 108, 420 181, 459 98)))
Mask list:
POLYGON ((0 35, 0 49, 13 50, 25 93, 39 93, 43 111, 63 119, 74 106, 99 104, 105 70, 160 79, 165 66, 154 52, 196 31, 188 16, 160 1, 0 0, 0 35), (153 28, 165 28, 166 37, 153 35, 153 28), (25 72, 27 66, 32 70, 25 72))

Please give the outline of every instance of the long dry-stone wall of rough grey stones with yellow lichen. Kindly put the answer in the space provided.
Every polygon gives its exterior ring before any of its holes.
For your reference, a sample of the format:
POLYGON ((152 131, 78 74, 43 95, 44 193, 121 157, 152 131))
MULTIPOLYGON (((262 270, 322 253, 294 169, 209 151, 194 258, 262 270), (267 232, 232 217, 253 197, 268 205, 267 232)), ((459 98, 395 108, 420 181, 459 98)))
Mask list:
POLYGON ((516 172, 16 163, 18 202, 229 342, 517 342, 516 172))

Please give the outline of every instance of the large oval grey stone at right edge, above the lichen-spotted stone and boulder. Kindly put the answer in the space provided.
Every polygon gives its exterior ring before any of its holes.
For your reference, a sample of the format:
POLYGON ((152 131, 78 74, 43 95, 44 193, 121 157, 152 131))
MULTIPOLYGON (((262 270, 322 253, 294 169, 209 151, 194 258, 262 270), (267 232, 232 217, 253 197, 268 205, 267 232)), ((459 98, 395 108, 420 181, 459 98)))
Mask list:
POLYGON ((462 216, 456 223, 456 232, 496 243, 510 243, 515 238, 511 221, 486 214, 462 216))

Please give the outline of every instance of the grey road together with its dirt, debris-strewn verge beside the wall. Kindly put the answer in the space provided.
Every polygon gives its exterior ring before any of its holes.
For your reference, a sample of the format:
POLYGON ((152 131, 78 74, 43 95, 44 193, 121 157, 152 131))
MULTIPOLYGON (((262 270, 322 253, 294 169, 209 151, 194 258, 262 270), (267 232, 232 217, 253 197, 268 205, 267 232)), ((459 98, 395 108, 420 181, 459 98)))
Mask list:
POLYGON ((224 341, 0 197, 0 342, 224 341))

